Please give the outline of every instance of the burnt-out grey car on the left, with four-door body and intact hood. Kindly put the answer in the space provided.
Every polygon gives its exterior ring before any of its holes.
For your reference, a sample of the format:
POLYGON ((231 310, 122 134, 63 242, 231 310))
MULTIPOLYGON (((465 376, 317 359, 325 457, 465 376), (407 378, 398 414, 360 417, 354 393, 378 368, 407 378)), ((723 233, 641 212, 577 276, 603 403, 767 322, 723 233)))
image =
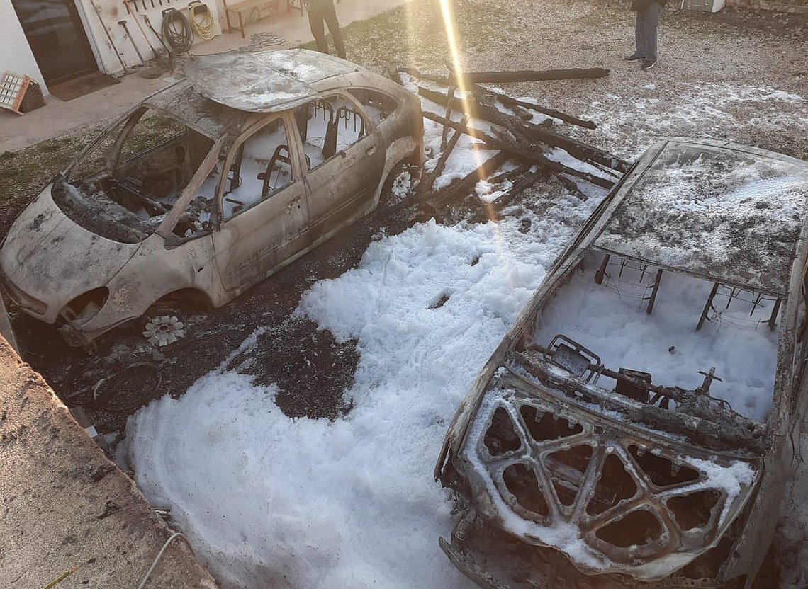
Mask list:
POLYGON ((144 314, 145 336, 175 340, 178 305, 234 299, 423 164, 418 98, 348 61, 228 52, 185 73, 53 178, 2 243, 10 299, 71 344, 144 314))

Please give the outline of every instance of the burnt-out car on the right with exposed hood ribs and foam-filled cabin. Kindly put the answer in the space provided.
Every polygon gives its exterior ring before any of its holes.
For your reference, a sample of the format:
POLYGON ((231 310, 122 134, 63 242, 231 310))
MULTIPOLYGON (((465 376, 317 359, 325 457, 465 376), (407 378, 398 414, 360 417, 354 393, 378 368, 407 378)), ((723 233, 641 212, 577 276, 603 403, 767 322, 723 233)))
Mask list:
POLYGON ((648 149, 478 375, 436 466, 482 587, 750 587, 806 417, 808 163, 648 149))

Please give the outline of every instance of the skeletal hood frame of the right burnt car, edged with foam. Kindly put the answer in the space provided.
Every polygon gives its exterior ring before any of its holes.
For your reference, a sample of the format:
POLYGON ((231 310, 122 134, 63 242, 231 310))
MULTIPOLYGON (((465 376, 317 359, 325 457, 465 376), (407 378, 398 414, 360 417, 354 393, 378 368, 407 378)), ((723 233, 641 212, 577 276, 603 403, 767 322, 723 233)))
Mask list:
MULTIPOLYGON (((760 461, 587 407, 509 363, 460 452, 473 503, 585 574, 653 581, 718 544, 760 480, 760 461)), ((459 465, 460 466, 460 465, 459 465)))

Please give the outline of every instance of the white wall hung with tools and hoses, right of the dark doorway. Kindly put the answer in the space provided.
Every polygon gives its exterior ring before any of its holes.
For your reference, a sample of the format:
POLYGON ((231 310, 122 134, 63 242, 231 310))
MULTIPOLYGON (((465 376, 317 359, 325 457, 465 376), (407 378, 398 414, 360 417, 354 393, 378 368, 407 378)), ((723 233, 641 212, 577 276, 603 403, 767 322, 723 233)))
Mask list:
MULTIPOLYGON (((76 0, 76 6, 82 16, 90 47, 95 53, 99 69, 102 72, 117 74, 123 72, 124 65, 126 68, 133 68, 141 63, 133 47, 133 41, 146 61, 153 57, 149 43, 154 48, 162 49, 158 37, 154 36, 146 26, 143 15, 147 15, 154 30, 160 32, 162 10, 174 7, 187 16, 187 2, 188 0, 162 0, 162 2, 160 0, 154 0, 154 2, 153 0, 145 0, 145 2, 137 0, 138 10, 133 8, 131 14, 122 0, 76 0), (152 7, 153 3, 154 7, 152 7), (119 21, 126 22, 132 40, 128 39, 124 27, 119 24, 119 21), (121 61, 123 61, 123 65, 121 61)), ((213 22, 216 23, 218 35, 221 33, 221 27, 219 26, 217 2, 216 0, 203 0, 203 2, 213 13, 213 22)), ((127 4, 131 5, 129 2, 127 4)), ((194 42, 199 43, 200 37, 195 36, 194 42)))

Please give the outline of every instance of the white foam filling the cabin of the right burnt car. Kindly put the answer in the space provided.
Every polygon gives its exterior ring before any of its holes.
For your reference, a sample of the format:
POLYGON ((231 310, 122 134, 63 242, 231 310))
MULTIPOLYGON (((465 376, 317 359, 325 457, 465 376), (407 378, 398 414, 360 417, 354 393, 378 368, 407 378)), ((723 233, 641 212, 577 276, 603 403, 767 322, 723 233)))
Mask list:
MULTIPOLYGON (((588 258, 585 270, 558 290, 542 312, 534 336, 538 344, 549 345, 553 336, 563 333, 591 349, 609 369, 651 373, 659 386, 692 390, 704 380, 700 370, 715 368, 722 381, 712 383, 710 395, 725 399, 743 416, 765 422, 777 363, 777 332, 764 324, 773 300, 762 299, 753 307, 742 297, 731 305, 717 297, 714 304, 720 312, 709 315, 710 321, 696 331, 712 282, 665 273, 654 312, 648 315, 645 305, 655 269, 640 278, 615 258, 599 285, 594 278, 599 267, 600 256, 588 258)), ((601 381, 604 388, 612 385, 609 378, 601 381)))

